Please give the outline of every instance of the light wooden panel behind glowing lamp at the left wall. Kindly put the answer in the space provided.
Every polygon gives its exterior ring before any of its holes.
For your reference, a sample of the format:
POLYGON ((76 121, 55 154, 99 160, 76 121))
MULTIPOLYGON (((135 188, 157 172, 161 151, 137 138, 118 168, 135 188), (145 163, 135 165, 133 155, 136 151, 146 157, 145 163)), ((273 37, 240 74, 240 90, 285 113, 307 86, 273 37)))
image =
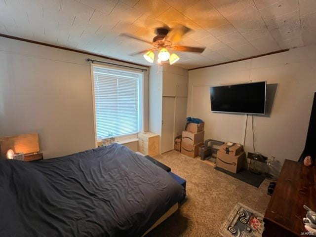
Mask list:
POLYGON ((0 137, 0 156, 5 157, 9 149, 13 150, 14 153, 37 153, 40 151, 39 134, 0 137))

